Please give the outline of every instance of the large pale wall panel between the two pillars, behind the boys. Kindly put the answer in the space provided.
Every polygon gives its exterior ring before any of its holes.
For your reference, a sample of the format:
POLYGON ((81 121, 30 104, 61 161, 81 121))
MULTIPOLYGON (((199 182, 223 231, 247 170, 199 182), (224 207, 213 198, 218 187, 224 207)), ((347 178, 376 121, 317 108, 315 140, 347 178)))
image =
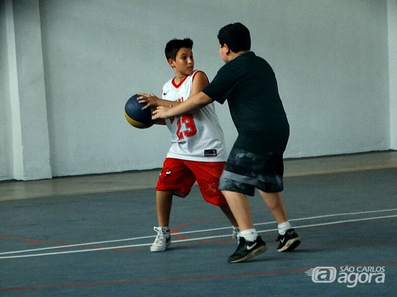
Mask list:
MULTIPOLYGON (((236 21, 275 70, 291 124, 285 157, 390 149, 386 0, 39 3, 53 176, 160 167, 169 132, 130 127, 126 100, 160 94, 174 37, 193 39, 196 68, 212 79, 223 65, 218 30, 236 21)), ((216 108, 230 149, 228 107, 216 108)), ((7 172, 0 179, 15 178, 7 172)))

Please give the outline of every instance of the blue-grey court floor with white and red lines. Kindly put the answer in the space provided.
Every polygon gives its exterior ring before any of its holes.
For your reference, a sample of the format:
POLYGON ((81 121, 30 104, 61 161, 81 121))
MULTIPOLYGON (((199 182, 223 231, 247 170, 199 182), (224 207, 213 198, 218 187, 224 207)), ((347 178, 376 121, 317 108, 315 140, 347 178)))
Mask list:
POLYGON ((394 296, 396 181, 396 168, 286 177, 301 246, 276 252, 276 224, 255 196, 269 248, 240 264, 227 263, 230 226, 197 187, 174 199, 164 253, 149 251, 154 189, 2 201, 0 296, 394 296))

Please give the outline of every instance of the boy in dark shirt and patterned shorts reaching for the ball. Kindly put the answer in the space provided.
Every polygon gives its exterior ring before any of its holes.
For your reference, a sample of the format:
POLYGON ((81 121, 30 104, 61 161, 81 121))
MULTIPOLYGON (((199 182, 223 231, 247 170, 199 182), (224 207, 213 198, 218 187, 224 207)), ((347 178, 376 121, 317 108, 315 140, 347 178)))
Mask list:
MULTIPOLYGON (((153 118, 167 118, 201 108, 214 100, 227 99, 238 132, 223 170, 222 190, 240 227, 240 243, 228 261, 237 263, 266 251, 266 244, 253 227, 247 196, 257 188, 278 226, 278 252, 295 249, 299 236, 288 222, 283 190, 282 154, 289 137, 289 124, 270 65, 250 51, 248 29, 241 23, 222 27, 219 54, 226 63, 202 92, 172 108, 158 107, 153 118)), ((145 95, 150 96, 150 95, 145 95)))

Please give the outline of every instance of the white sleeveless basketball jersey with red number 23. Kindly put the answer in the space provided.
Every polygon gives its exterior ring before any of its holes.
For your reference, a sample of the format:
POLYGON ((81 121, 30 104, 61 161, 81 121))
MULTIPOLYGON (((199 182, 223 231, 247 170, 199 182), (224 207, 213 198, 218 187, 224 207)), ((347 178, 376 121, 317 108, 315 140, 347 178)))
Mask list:
MULTIPOLYGON (((167 81, 161 92, 162 99, 180 102, 188 100, 197 72, 186 76, 179 84, 175 83, 174 78, 167 81)), ((223 131, 214 103, 194 114, 166 118, 165 123, 172 134, 172 146, 167 158, 202 162, 226 161, 223 131)))

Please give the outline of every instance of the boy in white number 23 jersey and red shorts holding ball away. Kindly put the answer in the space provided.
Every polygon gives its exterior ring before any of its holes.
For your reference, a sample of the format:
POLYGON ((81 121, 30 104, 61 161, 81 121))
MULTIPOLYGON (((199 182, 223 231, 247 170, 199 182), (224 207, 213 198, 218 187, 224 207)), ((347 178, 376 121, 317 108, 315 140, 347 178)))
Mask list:
MULTIPOLYGON (((200 93, 209 84, 206 74, 194 71, 193 41, 173 39, 165 47, 165 56, 175 77, 162 88, 162 99, 153 94, 139 94, 139 102, 150 106, 173 106, 200 93)), ((164 124, 157 122, 156 124, 164 124)), ((213 104, 192 114, 182 114, 165 119, 172 134, 172 146, 168 151, 156 186, 158 227, 156 239, 150 247, 152 252, 165 251, 171 245, 169 215, 173 195, 186 197, 197 181, 204 199, 220 207, 233 225, 233 237, 239 229, 228 203, 218 189, 226 152, 223 132, 213 104)))

